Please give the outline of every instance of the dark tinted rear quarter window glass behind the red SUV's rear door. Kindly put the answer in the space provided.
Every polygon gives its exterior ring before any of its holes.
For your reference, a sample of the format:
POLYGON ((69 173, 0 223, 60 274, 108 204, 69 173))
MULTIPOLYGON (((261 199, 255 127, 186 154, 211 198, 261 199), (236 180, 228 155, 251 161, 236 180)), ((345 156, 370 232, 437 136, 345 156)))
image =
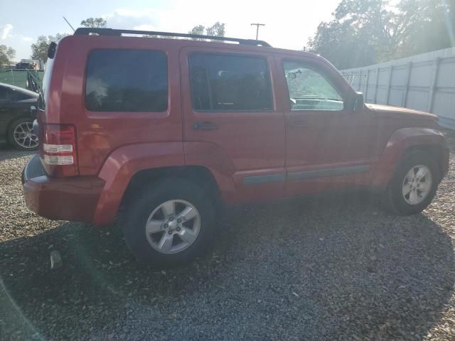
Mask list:
POLYGON ((93 112, 164 112, 166 54, 154 50, 93 50, 87 61, 85 107, 93 112))

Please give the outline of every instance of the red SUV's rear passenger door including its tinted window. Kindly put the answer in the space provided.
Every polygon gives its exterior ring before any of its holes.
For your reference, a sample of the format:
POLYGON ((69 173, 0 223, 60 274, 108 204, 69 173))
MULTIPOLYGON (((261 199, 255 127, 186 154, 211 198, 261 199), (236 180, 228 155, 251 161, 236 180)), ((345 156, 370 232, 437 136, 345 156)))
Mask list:
POLYGON ((284 117, 274 103, 272 56, 185 48, 180 64, 186 164, 233 179, 233 202, 281 196, 284 117))

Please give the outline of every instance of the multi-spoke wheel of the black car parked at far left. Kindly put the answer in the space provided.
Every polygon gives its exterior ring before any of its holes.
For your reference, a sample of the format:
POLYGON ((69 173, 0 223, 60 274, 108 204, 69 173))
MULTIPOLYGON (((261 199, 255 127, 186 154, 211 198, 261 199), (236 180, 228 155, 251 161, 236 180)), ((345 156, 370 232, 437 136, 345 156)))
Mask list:
POLYGON ((9 142, 20 151, 35 151, 38 148, 38 136, 33 134, 33 122, 22 117, 9 126, 9 142))

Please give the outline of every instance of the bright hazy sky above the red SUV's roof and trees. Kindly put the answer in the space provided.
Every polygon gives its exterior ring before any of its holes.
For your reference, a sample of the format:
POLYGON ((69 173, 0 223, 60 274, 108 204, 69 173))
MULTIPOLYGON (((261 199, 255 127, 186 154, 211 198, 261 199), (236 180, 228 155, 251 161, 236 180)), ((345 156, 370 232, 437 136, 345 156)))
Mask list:
POLYGON ((277 48, 301 50, 321 21, 331 19, 340 0, 0 0, 0 45, 30 58, 38 36, 72 33, 89 17, 103 17, 109 28, 187 33, 196 25, 225 23, 225 36, 255 38, 251 23, 265 23, 259 39, 277 48))

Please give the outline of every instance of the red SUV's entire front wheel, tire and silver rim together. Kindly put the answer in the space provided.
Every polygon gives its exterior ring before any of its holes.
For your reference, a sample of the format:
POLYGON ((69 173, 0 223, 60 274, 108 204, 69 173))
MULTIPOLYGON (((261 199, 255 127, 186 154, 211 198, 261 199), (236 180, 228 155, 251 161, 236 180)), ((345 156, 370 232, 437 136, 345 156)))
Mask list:
POLYGON ((382 204, 397 215, 417 215, 432 202, 439 180, 437 163, 428 153, 422 151, 409 153, 402 159, 387 185, 387 190, 382 195, 382 204), (416 173, 420 170, 422 173, 426 171, 429 175, 419 181, 416 173), (414 182, 409 179, 414 179, 414 182), (410 193, 405 195, 408 190, 410 193))

